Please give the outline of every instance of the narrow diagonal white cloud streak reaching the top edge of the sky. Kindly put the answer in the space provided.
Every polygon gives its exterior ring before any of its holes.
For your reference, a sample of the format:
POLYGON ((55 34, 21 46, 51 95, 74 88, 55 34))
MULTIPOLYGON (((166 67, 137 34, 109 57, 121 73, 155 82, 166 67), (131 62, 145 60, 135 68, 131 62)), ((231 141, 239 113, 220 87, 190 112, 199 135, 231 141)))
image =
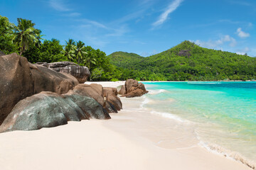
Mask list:
POLYGON ((159 17, 159 19, 153 23, 153 26, 159 26, 159 25, 163 24, 164 21, 166 21, 166 19, 168 18, 169 14, 174 12, 176 10, 176 8, 178 8, 178 6, 181 5, 182 1, 183 0, 172 1, 171 4, 168 6, 168 8, 166 8, 164 13, 161 13, 161 16, 159 17))

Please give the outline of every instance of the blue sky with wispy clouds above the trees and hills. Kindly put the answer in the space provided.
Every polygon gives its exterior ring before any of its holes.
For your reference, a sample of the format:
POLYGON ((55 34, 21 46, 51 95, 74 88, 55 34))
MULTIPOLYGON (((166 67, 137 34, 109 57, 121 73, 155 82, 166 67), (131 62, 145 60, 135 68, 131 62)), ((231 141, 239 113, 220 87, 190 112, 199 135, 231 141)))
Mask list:
POLYGON ((256 56, 255 0, 0 0, 0 16, 26 18, 44 39, 73 38, 144 57, 183 40, 256 56))

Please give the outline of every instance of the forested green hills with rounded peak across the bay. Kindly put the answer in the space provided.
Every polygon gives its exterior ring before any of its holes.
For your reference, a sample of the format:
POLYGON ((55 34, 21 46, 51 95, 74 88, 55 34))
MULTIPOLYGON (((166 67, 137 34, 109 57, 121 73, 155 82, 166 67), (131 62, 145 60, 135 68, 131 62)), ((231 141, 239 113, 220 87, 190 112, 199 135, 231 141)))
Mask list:
POLYGON ((211 50, 190 41, 150 57, 127 52, 109 57, 124 74, 139 80, 256 79, 255 57, 211 50))

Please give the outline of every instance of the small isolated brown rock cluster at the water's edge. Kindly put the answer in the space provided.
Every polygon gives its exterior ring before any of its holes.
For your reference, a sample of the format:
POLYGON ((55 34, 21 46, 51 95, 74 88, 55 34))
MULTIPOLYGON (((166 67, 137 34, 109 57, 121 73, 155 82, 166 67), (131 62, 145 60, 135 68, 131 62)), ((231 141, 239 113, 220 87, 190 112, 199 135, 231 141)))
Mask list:
POLYGON ((138 83, 138 81, 134 79, 128 79, 127 81, 125 81, 124 86, 122 86, 118 94, 122 94, 121 97, 132 98, 142 96, 144 94, 147 94, 148 92, 149 91, 146 91, 144 84, 138 83))

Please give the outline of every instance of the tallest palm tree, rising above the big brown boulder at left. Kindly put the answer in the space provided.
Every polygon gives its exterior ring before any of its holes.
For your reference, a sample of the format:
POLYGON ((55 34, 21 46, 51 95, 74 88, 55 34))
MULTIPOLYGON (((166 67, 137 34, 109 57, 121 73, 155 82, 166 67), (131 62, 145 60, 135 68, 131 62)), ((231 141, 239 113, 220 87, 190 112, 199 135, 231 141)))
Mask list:
MULTIPOLYGON (((18 26, 14 26, 14 38, 13 42, 18 45, 20 55, 29 49, 32 45, 38 42, 38 30, 33 28, 36 24, 31 20, 18 18, 18 26)), ((39 37, 41 39, 41 37, 39 37)))

